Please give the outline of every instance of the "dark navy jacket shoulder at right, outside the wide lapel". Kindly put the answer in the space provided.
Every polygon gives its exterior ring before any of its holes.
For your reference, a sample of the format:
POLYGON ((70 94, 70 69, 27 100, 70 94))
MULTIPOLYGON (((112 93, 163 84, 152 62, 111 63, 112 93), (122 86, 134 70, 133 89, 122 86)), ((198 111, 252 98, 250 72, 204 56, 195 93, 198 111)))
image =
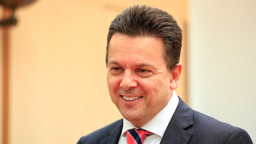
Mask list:
POLYGON ((236 126, 219 121, 193 110, 193 124, 187 128, 195 143, 241 143, 252 144, 249 134, 236 126))

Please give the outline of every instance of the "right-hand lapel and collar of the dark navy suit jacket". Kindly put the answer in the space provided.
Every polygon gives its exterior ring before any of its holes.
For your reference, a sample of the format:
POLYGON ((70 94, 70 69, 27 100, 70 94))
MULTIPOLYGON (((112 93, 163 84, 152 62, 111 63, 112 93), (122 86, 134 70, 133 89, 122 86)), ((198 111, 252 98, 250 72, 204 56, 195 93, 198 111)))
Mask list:
POLYGON ((188 143, 192 133, 184 130, 193 124, 193 110, 188 107, 179 97, 178 106, 173 113, 160 144, 188 143))

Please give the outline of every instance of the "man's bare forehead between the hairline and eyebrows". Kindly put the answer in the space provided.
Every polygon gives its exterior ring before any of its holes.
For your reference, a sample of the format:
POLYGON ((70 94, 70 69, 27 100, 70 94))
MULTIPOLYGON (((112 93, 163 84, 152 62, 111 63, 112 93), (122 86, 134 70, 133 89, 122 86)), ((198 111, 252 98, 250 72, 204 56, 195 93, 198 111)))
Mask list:
POLYGON ((163 43, 155 37, 129 37, 115 33, 110 39, 108 62, 138 64, 163 60, 163 43))

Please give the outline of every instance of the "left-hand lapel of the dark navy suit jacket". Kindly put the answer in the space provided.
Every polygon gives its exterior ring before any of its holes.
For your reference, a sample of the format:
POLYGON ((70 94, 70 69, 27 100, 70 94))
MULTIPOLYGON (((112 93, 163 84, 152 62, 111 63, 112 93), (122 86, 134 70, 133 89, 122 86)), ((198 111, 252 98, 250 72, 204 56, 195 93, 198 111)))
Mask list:
POLYGON ((123 119, 108 129, 109 136, 100 141, 100 144, 117 144, 123 129, 123 119))

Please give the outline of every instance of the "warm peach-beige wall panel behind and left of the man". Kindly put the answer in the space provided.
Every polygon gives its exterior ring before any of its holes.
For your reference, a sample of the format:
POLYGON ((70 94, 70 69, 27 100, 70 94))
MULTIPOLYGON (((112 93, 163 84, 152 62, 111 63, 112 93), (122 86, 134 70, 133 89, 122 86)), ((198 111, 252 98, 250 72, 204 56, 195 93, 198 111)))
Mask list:
MULTIPOLYGON (((166 10, 185 29, 185 0, 38 0, 16 11, 18 25, 10 31, 10 144, 76 143, 122 118, 108 94, 105 46, 110 22, 133 4, 166 10)), ((177 90, 183 97, 184 87, 177 90)))

